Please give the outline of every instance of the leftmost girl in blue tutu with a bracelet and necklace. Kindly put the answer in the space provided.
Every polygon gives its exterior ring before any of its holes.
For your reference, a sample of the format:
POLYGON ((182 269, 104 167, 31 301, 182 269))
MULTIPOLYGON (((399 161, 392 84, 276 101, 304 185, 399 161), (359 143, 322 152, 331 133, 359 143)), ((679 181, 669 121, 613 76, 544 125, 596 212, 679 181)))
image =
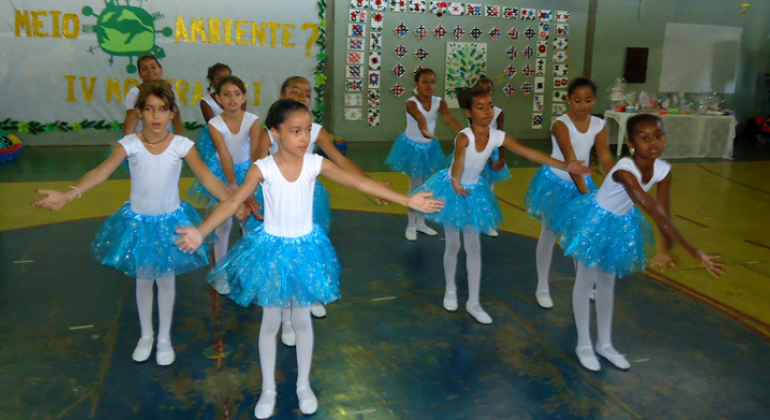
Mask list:
POLYGON ((144 123, 142 130, 124 137, 104 163, 66 191, 38 190, 46 197, 34 203, 37 207, 59 210, 104 182, 128 158, 131 201, 104 222, 91 245, 91 255, 96 261, 136 278, 141 325, 141 338, 133 354, 137 362, 147 360, 152 352, 153 282, 157 283, 160 325, 155 358, 159 365, 170 365, 175 358, 171 346, 175 276, 208 265, 210 241, 192 254, 174 245, 179 226, 202 221, 190 204, 179 199, 182 159, 217 198, 228 196, 225 186, 198 156, 193 142, 168 131, 168 122, 175 115, 173 109, 174 95, 167 82, 146 83, 136 100, 136 114, 144 123))

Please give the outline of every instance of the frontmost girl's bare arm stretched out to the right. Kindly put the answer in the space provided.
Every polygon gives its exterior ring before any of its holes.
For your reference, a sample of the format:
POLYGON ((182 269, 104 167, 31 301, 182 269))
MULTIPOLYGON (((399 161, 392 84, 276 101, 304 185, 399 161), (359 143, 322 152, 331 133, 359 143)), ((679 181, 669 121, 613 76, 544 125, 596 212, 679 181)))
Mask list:
POLYGON ((335 165, 334 162, 331 162, 328 159, 324 159, 323 164, 321 165, 321 175, 334 182, 345 185, 346 187, 355 188, 365 194, 392 201, 423 213, 434 213, 444 207, 443 202, 430 199, 433 193, 419 192, 407 197, 391 190, 377 181, 343 171, 335 165))

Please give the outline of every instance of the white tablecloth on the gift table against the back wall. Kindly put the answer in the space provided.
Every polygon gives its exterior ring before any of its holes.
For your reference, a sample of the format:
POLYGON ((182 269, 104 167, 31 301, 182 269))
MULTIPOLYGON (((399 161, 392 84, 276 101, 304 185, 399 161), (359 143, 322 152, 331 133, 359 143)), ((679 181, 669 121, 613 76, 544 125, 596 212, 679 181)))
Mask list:
MULTIPOLYGON (((608 122, 611 132, 614 132, 615 127, 613 127, 614 124, 609 124, 610 120, 614 120, 620 128, 615 136, 610 135, 611 143, 613 137, 617 139, 618 156, 626 139, 626 121, 634 115, 637 114, 615 111, 604 113, 604 119, 608 122)), ((683 114, 659 115, 659 117, 666 130, 664 159, 699 157, 732 159, 735 126, 738 124, 735 117, 683 114)))

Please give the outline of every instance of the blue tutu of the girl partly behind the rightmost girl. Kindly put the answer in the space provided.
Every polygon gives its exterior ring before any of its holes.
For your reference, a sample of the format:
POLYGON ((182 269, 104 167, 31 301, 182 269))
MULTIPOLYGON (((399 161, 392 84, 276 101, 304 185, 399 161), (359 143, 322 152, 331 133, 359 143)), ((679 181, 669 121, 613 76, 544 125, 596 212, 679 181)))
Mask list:
MULTIPOLYGON (((596 191, 596 185, 590 176, 585 177, 589 191, 596 191)), ((550 166, 543 165, 529 183, 524 196, 524 207, 527 214, 539 220, 546 229, 551 228, 551 219, 569 202, 580 197, 575 183, 565 181, 553 173, 550 166)))

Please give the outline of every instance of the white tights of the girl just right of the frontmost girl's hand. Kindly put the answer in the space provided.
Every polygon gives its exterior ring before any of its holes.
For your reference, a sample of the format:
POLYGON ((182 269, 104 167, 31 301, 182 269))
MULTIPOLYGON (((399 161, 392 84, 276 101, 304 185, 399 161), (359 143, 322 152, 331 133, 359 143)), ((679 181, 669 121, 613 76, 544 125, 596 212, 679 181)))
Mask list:
MULTIPOLYGON (((444 227, 446 248, 444 249, 444 275, 446 290, 456 291, 457 253, 460 252, 460 232, 450 232, 444 227)), ((479 301, 481 289, 481 242, 478 233, 463 231, 465 242, 465 266, 468 269, 468 302, 479 301)))

